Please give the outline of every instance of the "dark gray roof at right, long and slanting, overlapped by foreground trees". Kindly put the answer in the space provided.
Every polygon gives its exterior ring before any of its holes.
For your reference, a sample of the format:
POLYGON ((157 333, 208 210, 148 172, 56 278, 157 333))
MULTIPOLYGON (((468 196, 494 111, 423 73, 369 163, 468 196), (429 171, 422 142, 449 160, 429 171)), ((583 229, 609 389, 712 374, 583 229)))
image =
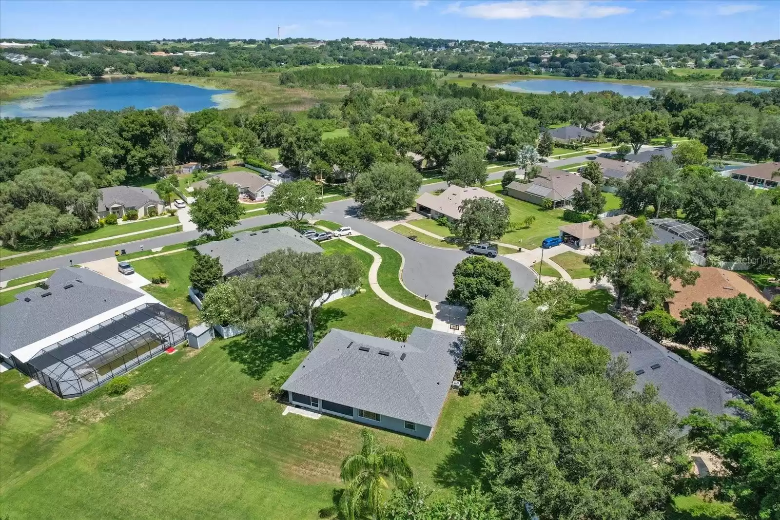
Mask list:
POLYGON ((702 408, 714 415, 729 413, 726 402, 743 398, 738 390, 669 352, 608 313, 589 310, 569 330, 608 349, 613 357, 626 356, 628 370, 636 374, 636 390, 646 384, 658 387, 658 398, 679 416, 702 408))

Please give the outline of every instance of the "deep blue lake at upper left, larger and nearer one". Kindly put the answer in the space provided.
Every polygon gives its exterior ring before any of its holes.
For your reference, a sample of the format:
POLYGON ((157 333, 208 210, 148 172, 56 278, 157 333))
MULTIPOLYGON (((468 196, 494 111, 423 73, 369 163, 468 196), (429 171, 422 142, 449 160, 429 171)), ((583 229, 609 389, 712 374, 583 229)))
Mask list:
POLYGON ((183 83, 111 79, 88 81, 48 94, 23 97, 0 105, 3 118, 48 119, 76 112, 122 110, 126 107, 160 108, 175 104, 186 112, 220 108, 235 101, 232 90, 213 90, 183 83))

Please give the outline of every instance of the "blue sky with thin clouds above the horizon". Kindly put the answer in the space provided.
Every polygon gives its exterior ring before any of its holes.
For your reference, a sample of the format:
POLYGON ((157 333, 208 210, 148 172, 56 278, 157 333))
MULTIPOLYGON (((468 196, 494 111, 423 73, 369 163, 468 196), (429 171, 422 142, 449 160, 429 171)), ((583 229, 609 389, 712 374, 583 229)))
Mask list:
POLYGON ((441 37, 482 41, 709 43, 780 39, 776 0, 81 2, 0 0, 0 37, 441 37))

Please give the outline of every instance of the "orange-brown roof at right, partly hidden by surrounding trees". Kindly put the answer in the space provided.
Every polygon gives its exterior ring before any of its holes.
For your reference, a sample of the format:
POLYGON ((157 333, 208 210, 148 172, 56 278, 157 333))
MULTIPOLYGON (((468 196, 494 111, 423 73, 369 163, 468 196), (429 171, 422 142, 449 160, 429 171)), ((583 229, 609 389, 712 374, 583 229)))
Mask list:
POLYGON ((678 320, 680 312, 689 309, 693 302, 707 303, 710 298, 734 298, 743 293, 766 306, 770 303, 755 285, 734 271, 699 266, 693 266, 691 269, 699 273, 696 284, 683 287, 679 280, 672 280, 672 291, 675 295, 665 303, 668 313, 678 320))

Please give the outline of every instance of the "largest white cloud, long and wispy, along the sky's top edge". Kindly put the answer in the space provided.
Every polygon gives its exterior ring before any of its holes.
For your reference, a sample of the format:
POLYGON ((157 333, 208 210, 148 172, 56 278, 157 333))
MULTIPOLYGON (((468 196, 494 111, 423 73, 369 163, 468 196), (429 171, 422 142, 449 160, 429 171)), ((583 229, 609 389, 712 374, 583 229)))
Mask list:
POLYGON ((512 2, 484 2, 461 6, 461 2, 450 4, 444 12, 458 12, 469 18, 523 19, 536 16, 550 18, 604 18, 628 14, 633 9, 622 5, 608 5, 577 0, 513 0, 512 2))

